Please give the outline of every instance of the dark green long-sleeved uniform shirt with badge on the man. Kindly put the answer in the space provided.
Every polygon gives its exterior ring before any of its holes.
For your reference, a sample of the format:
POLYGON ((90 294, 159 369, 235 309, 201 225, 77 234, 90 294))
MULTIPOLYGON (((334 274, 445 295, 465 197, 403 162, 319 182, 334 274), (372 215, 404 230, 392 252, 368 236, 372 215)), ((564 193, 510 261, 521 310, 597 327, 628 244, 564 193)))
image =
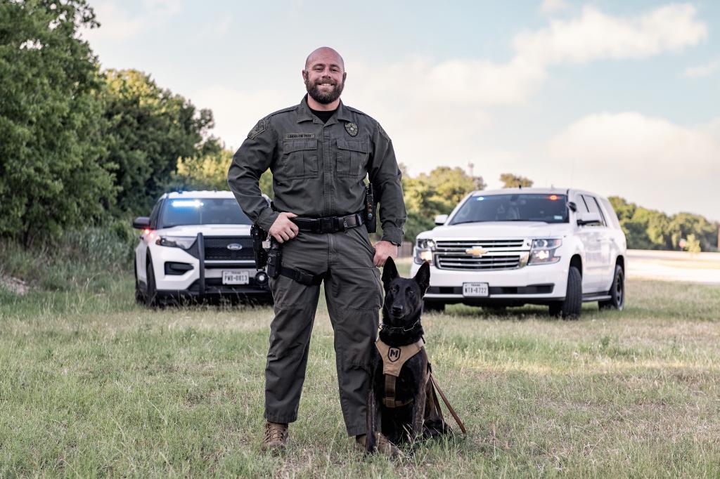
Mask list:
POLYGON ((387 133, 363 112, 341 102, 323 124, 310 111, 306 96, 251 130, 233 156, 228 185, 240 208, 266 231, 279 214, 258 186, 268 168, 276 209, 310 218, 364 210, 363 180, 368 176, 379 201, 382 239, 402 242, 406 213, 400 168, 387 133))

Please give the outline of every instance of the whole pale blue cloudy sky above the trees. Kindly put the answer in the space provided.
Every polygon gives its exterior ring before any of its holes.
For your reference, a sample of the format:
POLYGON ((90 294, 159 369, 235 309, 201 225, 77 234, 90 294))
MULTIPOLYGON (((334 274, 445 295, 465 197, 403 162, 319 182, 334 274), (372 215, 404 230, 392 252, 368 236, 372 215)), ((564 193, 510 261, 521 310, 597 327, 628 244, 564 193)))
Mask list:
POLYGON ((305 94, 338 50, 343 102, 408 174, 622 196, 720 220, 720 1, 90 0, 102 68, 135 68, 212 109, 226 147, 305 94), (472 164, 472 167, 471 167, 472 164))

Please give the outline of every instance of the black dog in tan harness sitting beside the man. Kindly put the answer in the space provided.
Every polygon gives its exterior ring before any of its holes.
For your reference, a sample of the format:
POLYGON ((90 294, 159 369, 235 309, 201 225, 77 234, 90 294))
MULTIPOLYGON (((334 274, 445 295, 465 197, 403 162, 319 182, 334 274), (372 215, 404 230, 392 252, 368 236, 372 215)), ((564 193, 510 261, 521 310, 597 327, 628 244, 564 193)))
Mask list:
POLYGON ((426 404, 428 391, 428 356, 422 348, 423 296, 430 284, 430 266, 423 263, 415 278, 400 278, 395 262, 388 258, 382 271, 385 301, 378 346, 373 348, 371 386, 368 396, 368 434, 366 449, 374 450, 378 429, 390 442, 412 442, 423 435, 443 434, 446 424, 438 417, 434 392, 433 404, 426 404), (387 356, 383 360, 382 354, 387 356), (411 357, 408 356, 412 355, 411 357), (404 361, 404 362, 403 362, 404 361), (386 374, 393 368, 396 375, 386 374), (402 364, 399 372, 397 367, 402 364), (428 411, 426 411, 428 409, 428 411), (377 421, 379 420, 379 428, 377 421), (428 430, 428 426, 430 429, 428 430))

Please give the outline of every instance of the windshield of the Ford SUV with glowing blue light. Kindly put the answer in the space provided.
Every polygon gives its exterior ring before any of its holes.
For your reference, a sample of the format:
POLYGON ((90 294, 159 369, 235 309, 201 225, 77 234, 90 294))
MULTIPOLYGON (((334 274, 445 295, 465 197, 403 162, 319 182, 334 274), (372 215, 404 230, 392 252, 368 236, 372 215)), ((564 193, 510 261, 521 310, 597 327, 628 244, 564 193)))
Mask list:
POLYGON ((184 224, 252 224, 234 198, 166 199, 158 228, 184 224))

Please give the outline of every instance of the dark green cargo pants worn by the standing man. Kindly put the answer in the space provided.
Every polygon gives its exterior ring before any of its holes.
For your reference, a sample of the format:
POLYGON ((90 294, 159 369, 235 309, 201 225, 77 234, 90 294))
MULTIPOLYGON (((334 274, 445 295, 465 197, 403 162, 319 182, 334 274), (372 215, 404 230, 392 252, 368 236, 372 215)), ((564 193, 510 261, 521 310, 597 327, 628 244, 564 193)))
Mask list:
MULTIPOLYGON (((348 435, 364 434, 370 352, 382 304, 374 248, 365 227, 337 233, 300 232, 282 245, 282 263, 313 274, 325 273, 325 300, 335 332, 340 404, 348 435)), ((275 318, 265 369, 265 418, 297 419, 305 380, 310 332, 320 286, 305 286, 278 276, 270 280, 275 318)))

